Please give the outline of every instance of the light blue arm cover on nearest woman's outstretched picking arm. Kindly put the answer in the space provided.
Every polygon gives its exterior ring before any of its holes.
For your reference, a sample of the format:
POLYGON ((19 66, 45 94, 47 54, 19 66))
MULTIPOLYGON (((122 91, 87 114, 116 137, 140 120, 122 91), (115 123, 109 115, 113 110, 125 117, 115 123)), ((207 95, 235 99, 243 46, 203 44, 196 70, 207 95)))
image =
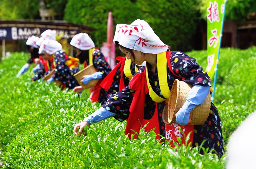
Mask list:
POLYGON ((112 113, 112 112, 104 109, 103 107, 100 107, 98 110, 96 110, 90 116, 86 117, 83 121, 91 124, 91 122, 99 122, 99 121, 105 120, 107 118, 113 117, 115 115, 117 115, 117 114, 112 113))

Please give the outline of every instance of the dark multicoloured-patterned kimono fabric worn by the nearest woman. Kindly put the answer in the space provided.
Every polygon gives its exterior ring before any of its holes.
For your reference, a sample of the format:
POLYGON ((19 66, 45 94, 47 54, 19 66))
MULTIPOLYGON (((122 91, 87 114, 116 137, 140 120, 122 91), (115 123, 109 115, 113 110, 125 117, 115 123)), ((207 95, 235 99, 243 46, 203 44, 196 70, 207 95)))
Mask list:
MULTIPOLYGON (((203 72, 203 68, 199 66, 196 60, 192 57, 187 56, 185 53, 179 51, 172 51, 170 61, 172 70, 175 75, 170 71, 168 64, 166 63, 167 70, 167 83, 169 89, 171 90, 172 84, 175 79, 179 79, 184 81, 190 85, 203 85, 210 86, 211 81, 207 73, 203 72), (180 76, 181 78, 177 77, 180 76)), ((160 96, 162 96, 159 78, 158 78, 158 69, 156 63, 156 71, 155 75, 153 75, 150 71, 148 72, 149 83, 152 86, 154 92, 160 96)), ((161 65, 162 66, 162 65, 161 65)), ((144 72, 145 67, 139 69, 139 72, 144 72)), ((135 73, 135 74, 137 74, 135 73)), ((124 121, 129 117, 129 106, 131 105, 133 99, 134 91, 130 89, 129 86, 126 86, 122 92, 117 92, 114 94, 114 97, 109 99, 103 107, 113 113, 116 113, 116 118, 118 121, 124 121), (118 109, 117 109, 118 106, 118 109)), ((149 95, 148 95, 149 96, 149 95)), ((154 102, 152 99, 148 99, 146 95, 145 99, 145 112, 144 119, 152 117, 152 112, 154 112, 154 102)), ((163 105, 159 104, 158 112, 159 116, 163 111, 163 105)), ((206 122, 203 125, 195 125, 194 126, 194 139, 193 146, 201 145, 203 141, 203 147, 209 149, 215 149, 215 151, 222 156, 224 154, 223 147, 223 136, 222 136, 222 128, 221 128, 221 119, 218 113, 218 110, 211 104, 210 115, 207 118, 206 122)), ((203 152, 201 152, 203 154, 203 152)))

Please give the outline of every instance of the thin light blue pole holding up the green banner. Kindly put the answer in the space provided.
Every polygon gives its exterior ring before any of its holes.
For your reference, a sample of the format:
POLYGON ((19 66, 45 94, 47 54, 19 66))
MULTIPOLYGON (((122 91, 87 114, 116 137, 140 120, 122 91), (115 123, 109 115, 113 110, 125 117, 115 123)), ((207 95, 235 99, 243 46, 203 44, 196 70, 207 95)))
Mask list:
POLYGON ((212 92, 212 97, 211 97, 212 102, 214 101, 217 73, 218 73, 218 67, 219 67, 219 57, 220 57, 220 50, 221 50, 221 40, 222 40, 222 31, 223 31, 224 18, 225 18, 226 3, 227 3, 227 0, 224 1, 224 11, 223 11, 222 23, 221 23, 220 42, 219 42, 218 55, 217 55, 217 60, 216 60, 216 68, 215 68, 215 73, 214 73, 213 92, 212 92))

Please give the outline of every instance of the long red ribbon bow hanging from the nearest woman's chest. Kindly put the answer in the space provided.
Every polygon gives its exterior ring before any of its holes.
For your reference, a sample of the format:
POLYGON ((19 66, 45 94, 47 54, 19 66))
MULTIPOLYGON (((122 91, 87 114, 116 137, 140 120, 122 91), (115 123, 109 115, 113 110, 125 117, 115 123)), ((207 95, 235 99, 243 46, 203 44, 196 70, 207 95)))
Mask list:
MULTIPOLYGON (((147 87, 146 73, 137 73, 130 81, 129 86, 135 91, 133 101, 130 107, 130 115, 127 119, 125 134, 131 139, 131 135, 135 134, 134 131, 139 133, 141 123, 144 117, 144 103, 145 95, 149 92, 147 87), (136 109, 135 109, 136 108, 136 109), (134 131, 131 131, 133 129, 134 131)), ((138 138, 138 135, 134 135, 138 138)))

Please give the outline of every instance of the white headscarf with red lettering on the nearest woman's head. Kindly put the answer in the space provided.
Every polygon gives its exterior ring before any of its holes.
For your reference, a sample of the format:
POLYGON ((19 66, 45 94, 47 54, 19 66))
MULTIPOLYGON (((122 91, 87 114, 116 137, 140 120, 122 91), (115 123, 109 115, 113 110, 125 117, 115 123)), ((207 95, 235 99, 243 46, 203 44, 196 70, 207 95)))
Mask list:
POLYGON ((119 45, 152 54, 159 54, 168 49, 148 23, 140 19, 128 26, 121 36, 119 45))

